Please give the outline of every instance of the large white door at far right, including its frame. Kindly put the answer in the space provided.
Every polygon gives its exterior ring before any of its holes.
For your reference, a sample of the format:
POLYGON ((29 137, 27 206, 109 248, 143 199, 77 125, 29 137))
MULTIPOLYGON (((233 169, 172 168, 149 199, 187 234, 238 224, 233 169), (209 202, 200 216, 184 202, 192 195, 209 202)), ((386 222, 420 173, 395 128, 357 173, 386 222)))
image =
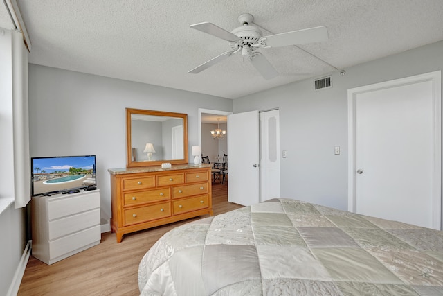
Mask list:
POLYGON ((350 211, 440 229, 436 76, 350 89, 350 211))

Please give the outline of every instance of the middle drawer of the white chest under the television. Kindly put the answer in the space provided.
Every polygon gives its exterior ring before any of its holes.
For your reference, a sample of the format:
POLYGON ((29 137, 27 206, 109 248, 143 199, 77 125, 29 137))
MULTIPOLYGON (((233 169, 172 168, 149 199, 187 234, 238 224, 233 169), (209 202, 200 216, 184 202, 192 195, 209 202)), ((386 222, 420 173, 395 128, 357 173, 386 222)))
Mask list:
POLYGON ((85 211, 77 215, 49 221, 49 240, 100 225, 100 209, 85 211))

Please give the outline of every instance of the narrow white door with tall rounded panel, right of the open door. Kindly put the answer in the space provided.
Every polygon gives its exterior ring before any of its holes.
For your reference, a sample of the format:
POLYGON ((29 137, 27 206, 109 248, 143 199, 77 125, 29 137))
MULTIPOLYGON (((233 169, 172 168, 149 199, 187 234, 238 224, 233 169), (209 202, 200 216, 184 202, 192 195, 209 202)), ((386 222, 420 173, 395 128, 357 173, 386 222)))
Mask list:
POLYGON ((280 198, 279 111, 260 112, 260 202, 280 198))

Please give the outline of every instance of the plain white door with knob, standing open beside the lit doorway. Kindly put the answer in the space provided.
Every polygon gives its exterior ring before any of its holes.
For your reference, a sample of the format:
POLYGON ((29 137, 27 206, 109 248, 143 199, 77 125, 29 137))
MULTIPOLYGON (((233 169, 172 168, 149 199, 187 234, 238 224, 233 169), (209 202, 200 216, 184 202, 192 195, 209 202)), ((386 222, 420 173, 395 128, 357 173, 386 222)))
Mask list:
POLYGON ((228 201, 260 202, 258 111, 228 116, 228 201))

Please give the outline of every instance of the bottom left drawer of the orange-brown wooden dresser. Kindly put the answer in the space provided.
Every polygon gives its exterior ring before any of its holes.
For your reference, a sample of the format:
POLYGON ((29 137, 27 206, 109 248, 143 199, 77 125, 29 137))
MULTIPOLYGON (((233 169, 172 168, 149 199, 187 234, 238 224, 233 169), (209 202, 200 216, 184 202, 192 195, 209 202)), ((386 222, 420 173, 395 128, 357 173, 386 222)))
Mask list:
POLYGON ((125 210, 125 225, 171 216, 170 202, 125 210))

